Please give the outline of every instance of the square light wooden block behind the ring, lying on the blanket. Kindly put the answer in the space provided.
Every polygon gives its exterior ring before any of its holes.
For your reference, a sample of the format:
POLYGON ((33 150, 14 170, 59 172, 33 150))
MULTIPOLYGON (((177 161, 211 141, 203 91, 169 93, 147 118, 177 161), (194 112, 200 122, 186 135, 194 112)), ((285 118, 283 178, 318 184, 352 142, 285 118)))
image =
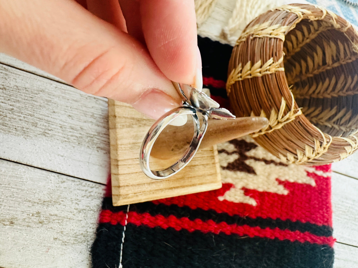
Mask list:
MULTIPOLYGON (((221 188, 216 146, 199 149, 185 168, 168 179, 148 178, 139 166, 139 152, 142 141, 155 120, 119 101, 108 100, 108 109, 113 205, 133 204, 221 188)), ((170 161, 175 163, 175 160, 177 159, 165 162, 169 166, 170 161)), ((157 165, 163 161, 158 160, 157 165)))

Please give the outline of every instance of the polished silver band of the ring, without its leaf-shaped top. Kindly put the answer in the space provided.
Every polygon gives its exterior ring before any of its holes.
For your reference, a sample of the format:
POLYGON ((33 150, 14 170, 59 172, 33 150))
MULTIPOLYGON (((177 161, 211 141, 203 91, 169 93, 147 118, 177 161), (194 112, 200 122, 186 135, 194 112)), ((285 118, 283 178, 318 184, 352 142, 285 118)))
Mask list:
POLYGON ((197 110, 191 107, 178 107, 161 116, 161 118, 159 118, 158 121, 156 121, 154 125, 151 126, 142 143, 139 164, 144 174, 151 179, 160 180, 168 178, 183 169, 197 152, 200 142, 208 127, 208 115, 206 113, 203 113, 202 118, 203 124, 200 127, 200 120, 197 115, 197 110), (194 135, 192 141, 189 144, 188 149, 185 151, 182 158, 180 158, 170 167, 162 170, 151 170, 149 167, 149 157, 155 140, 159 137, 161 131, 163 131, 163 129, 171 121, 173 121, 176 117, 180 115, 191 115, 193 117, 194 135))

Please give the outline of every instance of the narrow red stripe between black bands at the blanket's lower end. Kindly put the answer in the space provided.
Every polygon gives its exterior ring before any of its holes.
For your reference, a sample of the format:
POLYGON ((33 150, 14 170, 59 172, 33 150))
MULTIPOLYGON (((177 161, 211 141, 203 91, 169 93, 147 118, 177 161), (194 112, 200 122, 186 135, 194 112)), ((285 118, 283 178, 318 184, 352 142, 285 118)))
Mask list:
POLYGON ((330 247, 333 247, 335 239, 330 237, 318 236, 311 234, 309 232, 299 232, 299 231, 290 231, 290 230, 281 230, 279 228, 265 228, 260 227, 251 227, 248 225, 237 225, 237 224, 227 224, 226 222, 216 223, 213 220, 203 221, 201 219, 189 220, 187 217, 177 218, 174 215, 169 217, 164 217, 163 215, 152 216, 149 213, 139 214, 137 212, 129 212, 126 217, 126 212, 111 212, 110 210, 102 210, 100 214, 100 223, 110 223, 112 225, 121 224, 125 225, 127 223, 132 223, 137 226, 146 225, 150 228, 161 227, 174 228, 179 231, 181 229, 186 229, 189 232, 199 230, 203 233, 225 233, 227 235, 237 234, 240 236, 248 237, 261 237, 261 238, 278 238, 279 240, 288 239, 290 241, 299 241, 301 243, 309 242, 315 244, 328 244, 330 247), (127 219, 126 219, 127 218, 127 219))

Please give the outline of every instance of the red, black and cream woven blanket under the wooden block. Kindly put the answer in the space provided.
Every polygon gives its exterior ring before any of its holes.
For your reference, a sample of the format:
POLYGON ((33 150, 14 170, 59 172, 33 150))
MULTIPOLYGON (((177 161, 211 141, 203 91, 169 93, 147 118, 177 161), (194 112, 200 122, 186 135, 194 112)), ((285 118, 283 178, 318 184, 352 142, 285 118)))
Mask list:
MULTIPOLYGON (((227 106, 232 46, 198 46, 204 87, 227 106)), ((113 207, 108 184, 93 267, 332 267, 330 165, 286 165, 250 137, 218 150, 218 190, 113 207)))

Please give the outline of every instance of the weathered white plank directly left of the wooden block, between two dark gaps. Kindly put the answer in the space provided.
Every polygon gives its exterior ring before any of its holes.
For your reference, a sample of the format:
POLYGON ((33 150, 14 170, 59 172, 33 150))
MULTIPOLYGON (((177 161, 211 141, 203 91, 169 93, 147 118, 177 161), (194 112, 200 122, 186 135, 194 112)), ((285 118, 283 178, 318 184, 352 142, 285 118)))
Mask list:
POLYGON ((106 183, 106 98, 0 64, 0 105, 0 158, 106 183))

